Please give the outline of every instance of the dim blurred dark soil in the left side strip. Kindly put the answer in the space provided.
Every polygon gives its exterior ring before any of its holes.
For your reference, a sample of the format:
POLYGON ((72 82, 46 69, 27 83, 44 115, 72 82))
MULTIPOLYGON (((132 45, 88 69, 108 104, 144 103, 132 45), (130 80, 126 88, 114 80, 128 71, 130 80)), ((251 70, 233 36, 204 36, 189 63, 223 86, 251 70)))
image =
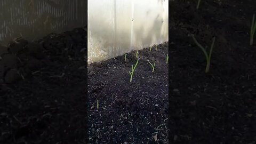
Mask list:
POLYGON ((84 28, 1 46, 0 143, 85 143, 85 47, 84 28))

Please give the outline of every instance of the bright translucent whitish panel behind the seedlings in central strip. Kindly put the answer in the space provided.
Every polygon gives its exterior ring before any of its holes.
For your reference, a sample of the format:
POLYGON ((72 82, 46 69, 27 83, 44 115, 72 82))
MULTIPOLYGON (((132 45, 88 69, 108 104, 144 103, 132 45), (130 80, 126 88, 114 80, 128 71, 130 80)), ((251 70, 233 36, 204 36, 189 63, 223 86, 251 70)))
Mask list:
POLYGON ((88 63, 167 41, 167 0, 88 1, 88 63))

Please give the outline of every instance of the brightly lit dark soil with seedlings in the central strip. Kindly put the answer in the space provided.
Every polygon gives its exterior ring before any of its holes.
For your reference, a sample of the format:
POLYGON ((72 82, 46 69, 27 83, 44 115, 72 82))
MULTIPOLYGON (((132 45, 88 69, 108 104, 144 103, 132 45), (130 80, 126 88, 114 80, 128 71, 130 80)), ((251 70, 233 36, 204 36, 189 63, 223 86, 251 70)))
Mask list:
POLYGON ((167 143, 168 43, 88 67, 89 143, 167 143), (152 72, 149 64, 155 61, 152 72), (98 107, 97 107, 98 102, 98 107))

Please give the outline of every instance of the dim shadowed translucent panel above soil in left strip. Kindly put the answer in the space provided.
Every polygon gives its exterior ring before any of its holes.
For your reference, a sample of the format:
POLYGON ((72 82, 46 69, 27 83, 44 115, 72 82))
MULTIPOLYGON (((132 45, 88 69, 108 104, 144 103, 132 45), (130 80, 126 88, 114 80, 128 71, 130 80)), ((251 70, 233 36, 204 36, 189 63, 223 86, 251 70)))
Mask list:
POLYGON ((84 0, 1 0, 0 44, 22 36, 30 41, 87 23, 84 0))

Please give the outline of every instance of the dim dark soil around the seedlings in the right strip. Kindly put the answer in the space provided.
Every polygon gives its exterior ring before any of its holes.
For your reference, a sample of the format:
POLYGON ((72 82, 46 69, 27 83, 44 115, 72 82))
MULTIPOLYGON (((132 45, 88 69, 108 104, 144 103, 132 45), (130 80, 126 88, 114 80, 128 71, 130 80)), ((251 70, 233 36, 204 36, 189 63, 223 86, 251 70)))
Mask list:
POLYGON ((169 142, 256 143, 256 1, 196 2, 169 2, 169 142), (217 37, 207 74, 190 34, 208 47, 217 37))

